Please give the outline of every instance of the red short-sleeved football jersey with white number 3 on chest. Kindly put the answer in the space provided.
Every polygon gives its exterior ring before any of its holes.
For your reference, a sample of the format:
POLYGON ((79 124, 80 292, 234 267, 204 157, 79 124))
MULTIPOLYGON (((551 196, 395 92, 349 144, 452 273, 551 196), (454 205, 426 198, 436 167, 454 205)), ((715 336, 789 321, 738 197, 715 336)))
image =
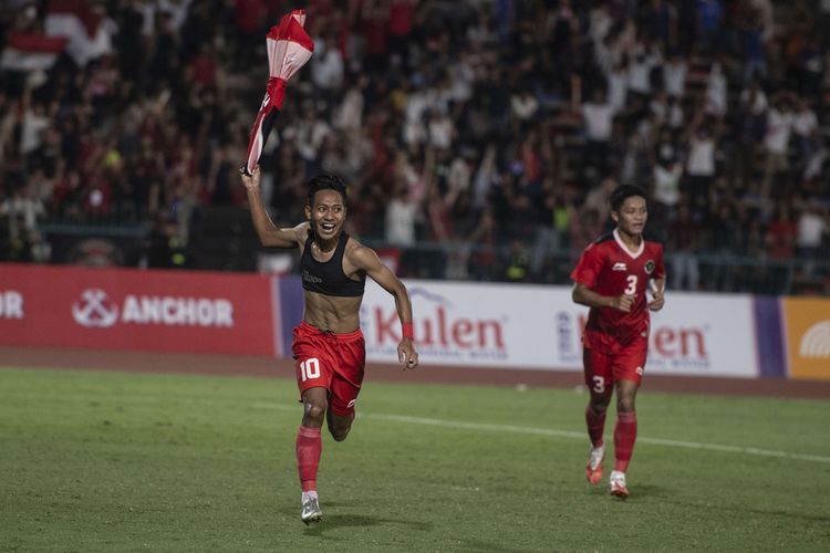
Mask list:
POLYGON ((630 251, 616 230, 591 243, 571 273, 571 279, 601 295, 636 294, 630 313, 613 307, 591 307, 585 324, 585 345, 625 345, 649 336, 649 281, 665 276, 663 246, 643 239, 630 251), (600 333, 604 336, 596 336, 600 333), (611 338, 606 341, 605 338, 611 338))

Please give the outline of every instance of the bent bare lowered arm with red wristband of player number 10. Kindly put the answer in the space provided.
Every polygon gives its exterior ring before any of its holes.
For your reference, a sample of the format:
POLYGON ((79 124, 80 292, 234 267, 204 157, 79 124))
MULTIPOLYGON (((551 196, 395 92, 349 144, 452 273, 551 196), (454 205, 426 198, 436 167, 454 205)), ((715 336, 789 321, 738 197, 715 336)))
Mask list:
POLYGON ((418 366, 418 352, 415 349, 412 331, 412 301, 406 286, 401 279, 395 276, 388 267, 384 265, 377 258, 377 253, 371 248, 359 246, 351 251, 350 261, 366 274, 381 288, 395 298, 395 310, 401 319, 402 337, 397 344, 397 359, 404 369, 418 366))

